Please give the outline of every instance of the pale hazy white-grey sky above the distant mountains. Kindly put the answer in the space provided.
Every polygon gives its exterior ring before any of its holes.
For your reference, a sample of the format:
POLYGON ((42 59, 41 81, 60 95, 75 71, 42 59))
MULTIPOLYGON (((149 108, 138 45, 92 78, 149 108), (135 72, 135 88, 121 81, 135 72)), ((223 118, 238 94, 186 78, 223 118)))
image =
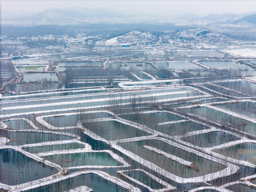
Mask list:
POLYGON ((1 10, 23 11, 37 13, 49 8, 66 9, 71 6, 112 9, 125 13, 145 13, 161 15, 182 15, 194 13, 197 15, 207 15, 210 13, 245 13, 256 11, 256 0, 252 1, 148 1, 148 0, 126 0, 126 1, 14 1, 0 0, 1 10))

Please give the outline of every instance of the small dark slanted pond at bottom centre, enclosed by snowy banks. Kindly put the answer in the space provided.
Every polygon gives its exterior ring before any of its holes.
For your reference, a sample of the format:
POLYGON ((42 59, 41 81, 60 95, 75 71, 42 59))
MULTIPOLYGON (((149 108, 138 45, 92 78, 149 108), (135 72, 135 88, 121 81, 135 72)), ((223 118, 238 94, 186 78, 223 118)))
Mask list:
POLYGON ((149 177, 145 172, 140 170, 131 170, 131 171, 124 171, 123 174, 131 177, 146 186, 150 187, 151 189, 164 189, 166 186, 157 182, 155 179, 149 177))

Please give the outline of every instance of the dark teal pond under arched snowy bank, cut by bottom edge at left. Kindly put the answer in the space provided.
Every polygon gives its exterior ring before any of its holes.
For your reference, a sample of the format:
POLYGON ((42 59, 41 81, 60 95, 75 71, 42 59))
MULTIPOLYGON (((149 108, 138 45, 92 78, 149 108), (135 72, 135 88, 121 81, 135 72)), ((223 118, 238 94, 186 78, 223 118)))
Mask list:
POLYGON ((88 186, 89 188, 93 189, 94 192, 102 192, 102 189, 104 189, 105 192, 129 192, 128 189, 118 186, 115 183, 110 182, 109 180, 104 179, 94 173, 78 175, 76 177, 55 182, 36 189, 26 190, 24 192, 63 192, 79 186, 88 186))

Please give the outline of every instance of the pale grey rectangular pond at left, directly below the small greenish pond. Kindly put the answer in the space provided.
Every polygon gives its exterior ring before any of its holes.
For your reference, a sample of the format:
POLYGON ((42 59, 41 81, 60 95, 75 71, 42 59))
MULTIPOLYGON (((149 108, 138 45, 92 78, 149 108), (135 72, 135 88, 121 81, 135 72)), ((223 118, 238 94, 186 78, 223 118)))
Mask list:
POLYGON ((56 73, 24 73, 22 74, 22 82, 58 82, 56 73))

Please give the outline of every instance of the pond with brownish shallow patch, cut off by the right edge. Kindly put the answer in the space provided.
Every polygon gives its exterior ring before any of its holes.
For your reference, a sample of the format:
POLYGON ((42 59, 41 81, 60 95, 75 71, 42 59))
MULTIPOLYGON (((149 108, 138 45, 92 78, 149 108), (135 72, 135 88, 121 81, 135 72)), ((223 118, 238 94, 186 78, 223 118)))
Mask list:
POLYGON ((221 155, 256 165, 256 144, 240 143, 231 147, 213 150, 221 155))

